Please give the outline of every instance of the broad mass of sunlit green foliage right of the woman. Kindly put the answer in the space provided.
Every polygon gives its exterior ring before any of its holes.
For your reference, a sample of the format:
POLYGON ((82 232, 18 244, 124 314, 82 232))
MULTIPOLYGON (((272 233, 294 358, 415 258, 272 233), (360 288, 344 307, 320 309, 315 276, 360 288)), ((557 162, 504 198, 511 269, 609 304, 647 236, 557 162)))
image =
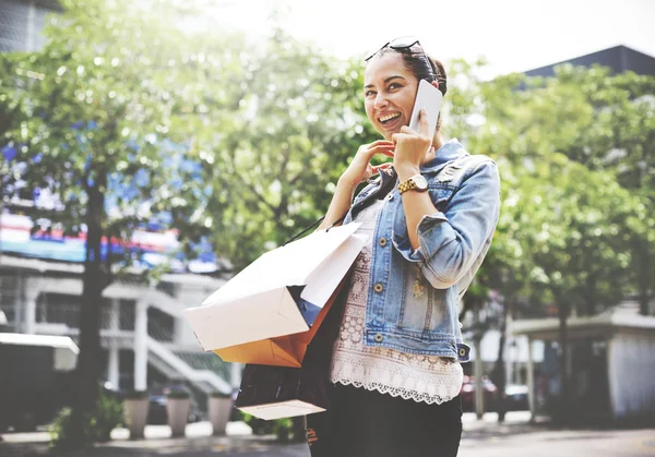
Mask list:
POLYGON ((544 313, 539 303, 596 313, 634 293, 635 239, 652 237, 653 184, 643 175, 635 192, 639 182, 627 177, 652 167, 644 148, 653 147, 646 94, 655 79, 563 67, 553 79, 483 83, 475 68, 458 68, 468 84, 452 91, 465 105, 451 109, 455 125, 473 154, 496 159, 502 180, 500 220, 477 281, 531 303, 522 309, 528 315, 544 313), (479 124, 466 122, 471 111, 479 124))

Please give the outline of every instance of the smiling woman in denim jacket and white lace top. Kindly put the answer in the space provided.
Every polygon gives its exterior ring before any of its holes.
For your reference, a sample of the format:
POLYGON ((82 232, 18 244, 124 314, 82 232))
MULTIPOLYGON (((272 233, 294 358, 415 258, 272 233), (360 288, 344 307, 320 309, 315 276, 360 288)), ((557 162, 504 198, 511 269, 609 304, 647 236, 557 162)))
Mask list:
MULTIPOLYGON (((364 145, 342 175, 322 227, 346 214, 370 241, 356 261, 334 341, 329 411, 307 417, 312 456, 456 456, 462 433, 460 362, 468 361, 457 302, 498 221, 499 176, 485 156, 444 142, 425 113, 407 124, 418 82, 443 95, 443 65, 418 40, 398 39, 367 59, 366 113, 384 137, 364 145), (376 155, 393 163, 372 167, 376 155), (355 188, 397 173, 386 197, 353 214, 355 188)), ((355 199, 361 202, 376 182, 355 199)))

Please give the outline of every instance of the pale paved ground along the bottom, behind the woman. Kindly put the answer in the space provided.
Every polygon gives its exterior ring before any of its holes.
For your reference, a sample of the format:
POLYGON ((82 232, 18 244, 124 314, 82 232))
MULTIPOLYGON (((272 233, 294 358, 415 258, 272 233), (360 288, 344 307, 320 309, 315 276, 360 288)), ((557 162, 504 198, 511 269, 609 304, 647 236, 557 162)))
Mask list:
MULTIPOLYGON (((499 425, 495 414, 477 421, 464 414, 464 436, 458 457, 642 457, 655 456, 655 429, 641 430, 549 430, 528 425, 523 416, 510 416, 499 425)), ((69 457, 309 457, 306 444, 277 444, 272 436, 243 433, 243 426, 230 423, 228 436, 207 436, 207 423, 190 424, 187 437, 170 438, 166 426, 152 426, 146 440, 127 440, 117 430, 115 440, 92 450, 66 454, 69 457)), ((47 434, 2 435, 1 457, 32 457, 49 454, 47 434), (31 437, 27 435, 32 435, 31 437), (33 438, 40 442, 26 442, 33 438)), ((335 456, 338 457, 338 456, 335 456)))

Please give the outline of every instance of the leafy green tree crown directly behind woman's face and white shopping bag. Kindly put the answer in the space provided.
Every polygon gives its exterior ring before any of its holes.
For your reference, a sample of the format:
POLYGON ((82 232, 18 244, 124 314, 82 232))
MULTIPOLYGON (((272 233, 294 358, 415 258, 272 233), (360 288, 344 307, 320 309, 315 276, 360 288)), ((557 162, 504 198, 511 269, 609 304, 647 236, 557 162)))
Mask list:
POLYGON ((212 157, 203 179, 213 243, 237 269, 321 217, 348 159, 379 137, 362 115, 361 63, 277 29, 242 53, 242 68, 229 128, 194 135, 212 157))

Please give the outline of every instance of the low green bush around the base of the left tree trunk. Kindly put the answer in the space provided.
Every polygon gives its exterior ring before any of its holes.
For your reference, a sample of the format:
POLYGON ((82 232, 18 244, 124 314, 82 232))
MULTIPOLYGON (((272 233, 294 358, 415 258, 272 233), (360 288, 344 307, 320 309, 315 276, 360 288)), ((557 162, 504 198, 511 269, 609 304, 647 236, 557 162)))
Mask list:
POLYGON ((57 413, 50 429, 50 443, 53 447, 72 449, 111 440, 111 431, 120 426, 123 421, 122 402, 100 390, 95 410, 84 414, 84 433, 81 443, 71 434, 71 419, 70 408, 63 408, 57 413))

